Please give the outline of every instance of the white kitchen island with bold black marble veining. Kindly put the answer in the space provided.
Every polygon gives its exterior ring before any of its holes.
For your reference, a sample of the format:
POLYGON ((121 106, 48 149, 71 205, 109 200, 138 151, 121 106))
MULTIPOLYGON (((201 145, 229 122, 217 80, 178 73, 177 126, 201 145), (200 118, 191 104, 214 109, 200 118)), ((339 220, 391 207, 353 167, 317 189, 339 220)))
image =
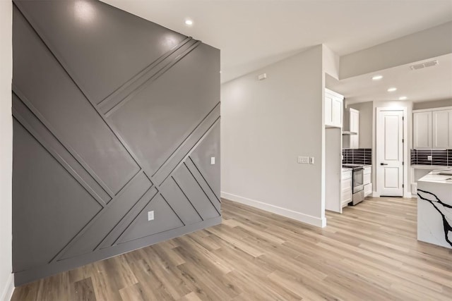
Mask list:
POLYGON ((452 249, 452 169, 417 182, 417 240, 452 249))

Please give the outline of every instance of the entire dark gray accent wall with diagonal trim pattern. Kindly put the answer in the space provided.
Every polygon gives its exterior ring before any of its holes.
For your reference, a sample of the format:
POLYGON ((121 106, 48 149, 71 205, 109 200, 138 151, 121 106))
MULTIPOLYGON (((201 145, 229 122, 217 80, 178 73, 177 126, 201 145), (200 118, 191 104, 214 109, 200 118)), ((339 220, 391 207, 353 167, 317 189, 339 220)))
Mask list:
POLYGON ((14 1, 16 285, 221 222, 219 71, 100 1, 14 1))

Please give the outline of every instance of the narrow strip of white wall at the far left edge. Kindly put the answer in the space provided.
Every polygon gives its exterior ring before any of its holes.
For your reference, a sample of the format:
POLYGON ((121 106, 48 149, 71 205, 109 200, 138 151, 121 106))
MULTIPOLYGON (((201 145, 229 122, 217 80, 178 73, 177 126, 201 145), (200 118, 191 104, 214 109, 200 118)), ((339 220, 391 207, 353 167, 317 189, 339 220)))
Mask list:
POLYGON ((12 293, 11 274, 11 177, 13 122, 11 118, 12 2, 0 1, 0 300, 12 293))

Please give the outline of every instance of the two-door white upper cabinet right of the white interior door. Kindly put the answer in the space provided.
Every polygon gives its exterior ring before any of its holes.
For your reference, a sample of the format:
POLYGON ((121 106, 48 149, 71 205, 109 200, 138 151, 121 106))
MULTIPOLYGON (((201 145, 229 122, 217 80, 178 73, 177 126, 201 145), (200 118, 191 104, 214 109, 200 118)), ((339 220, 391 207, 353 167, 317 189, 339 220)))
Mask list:
POLYGON ((419 110, 412 116, 414 149, 452 149, 452 108, 419 110))

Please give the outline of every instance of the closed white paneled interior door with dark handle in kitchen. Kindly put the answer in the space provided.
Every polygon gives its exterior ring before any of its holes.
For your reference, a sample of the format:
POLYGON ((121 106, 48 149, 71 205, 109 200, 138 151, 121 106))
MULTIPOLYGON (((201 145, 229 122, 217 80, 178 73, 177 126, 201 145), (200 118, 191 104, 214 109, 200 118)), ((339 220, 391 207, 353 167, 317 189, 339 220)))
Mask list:
POLYGON ((376 112, 376 192, 403 196, 403 111, 376 112))

